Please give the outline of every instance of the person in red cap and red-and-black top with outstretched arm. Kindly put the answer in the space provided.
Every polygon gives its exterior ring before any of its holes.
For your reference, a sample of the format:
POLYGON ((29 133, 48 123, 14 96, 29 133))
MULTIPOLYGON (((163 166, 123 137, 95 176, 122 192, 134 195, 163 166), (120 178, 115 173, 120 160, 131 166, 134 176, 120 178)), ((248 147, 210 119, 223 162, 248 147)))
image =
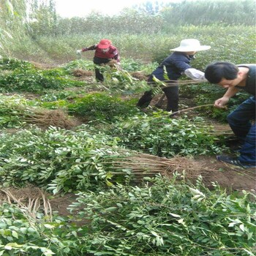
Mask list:
MULTIPOLYGON (((119 53, 115 46, 109 39, 101 39, 97 45, 82 48, 77 50, 77 53, 82 53, 87 50, 95 50, 94 53, 94 64, 106 64, 111 60, 116 60, 116 64, 120 64, 119 53)), ((97 81, 103 81, 104 77, 98 67, 95 67, 95 77, 97 81)))

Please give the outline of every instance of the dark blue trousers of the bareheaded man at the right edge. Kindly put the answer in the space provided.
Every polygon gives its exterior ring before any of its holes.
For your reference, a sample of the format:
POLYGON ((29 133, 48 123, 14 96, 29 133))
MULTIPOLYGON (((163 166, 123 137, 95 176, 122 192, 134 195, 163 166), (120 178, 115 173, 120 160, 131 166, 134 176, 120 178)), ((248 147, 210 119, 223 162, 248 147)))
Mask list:
POLYGON ((255 120, 255 107, 255 97, 250 97, 227 116, 228 124, 235 135, 244 141, 238 159, 250 165, 256 165, 256 128, 255 124, 251 123, 251 120, 255 120))

